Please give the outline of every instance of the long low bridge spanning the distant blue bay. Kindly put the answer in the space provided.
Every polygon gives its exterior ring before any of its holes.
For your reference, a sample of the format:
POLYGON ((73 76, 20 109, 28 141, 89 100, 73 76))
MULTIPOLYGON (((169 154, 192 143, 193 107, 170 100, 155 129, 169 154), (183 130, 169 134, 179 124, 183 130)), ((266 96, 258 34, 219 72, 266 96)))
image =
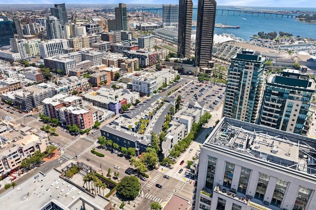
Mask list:
MULTIPOLYGON (((197 8, 193 8, 197 9, 197 8)), ((162 10, 162 8, 148 8, 148 9, 128 9, 127 12, 152 12, 158 14, 158 11, 162 10)), ((288 14, 286 12, 273 12, 273 11, 251 11, 251 10, 236 10, 236 9, 216 9, 216 15, 236 15, 236 16, 274 16, 274 17, 287 17, 287 18, 296 18, 295 14, 288 14)))

